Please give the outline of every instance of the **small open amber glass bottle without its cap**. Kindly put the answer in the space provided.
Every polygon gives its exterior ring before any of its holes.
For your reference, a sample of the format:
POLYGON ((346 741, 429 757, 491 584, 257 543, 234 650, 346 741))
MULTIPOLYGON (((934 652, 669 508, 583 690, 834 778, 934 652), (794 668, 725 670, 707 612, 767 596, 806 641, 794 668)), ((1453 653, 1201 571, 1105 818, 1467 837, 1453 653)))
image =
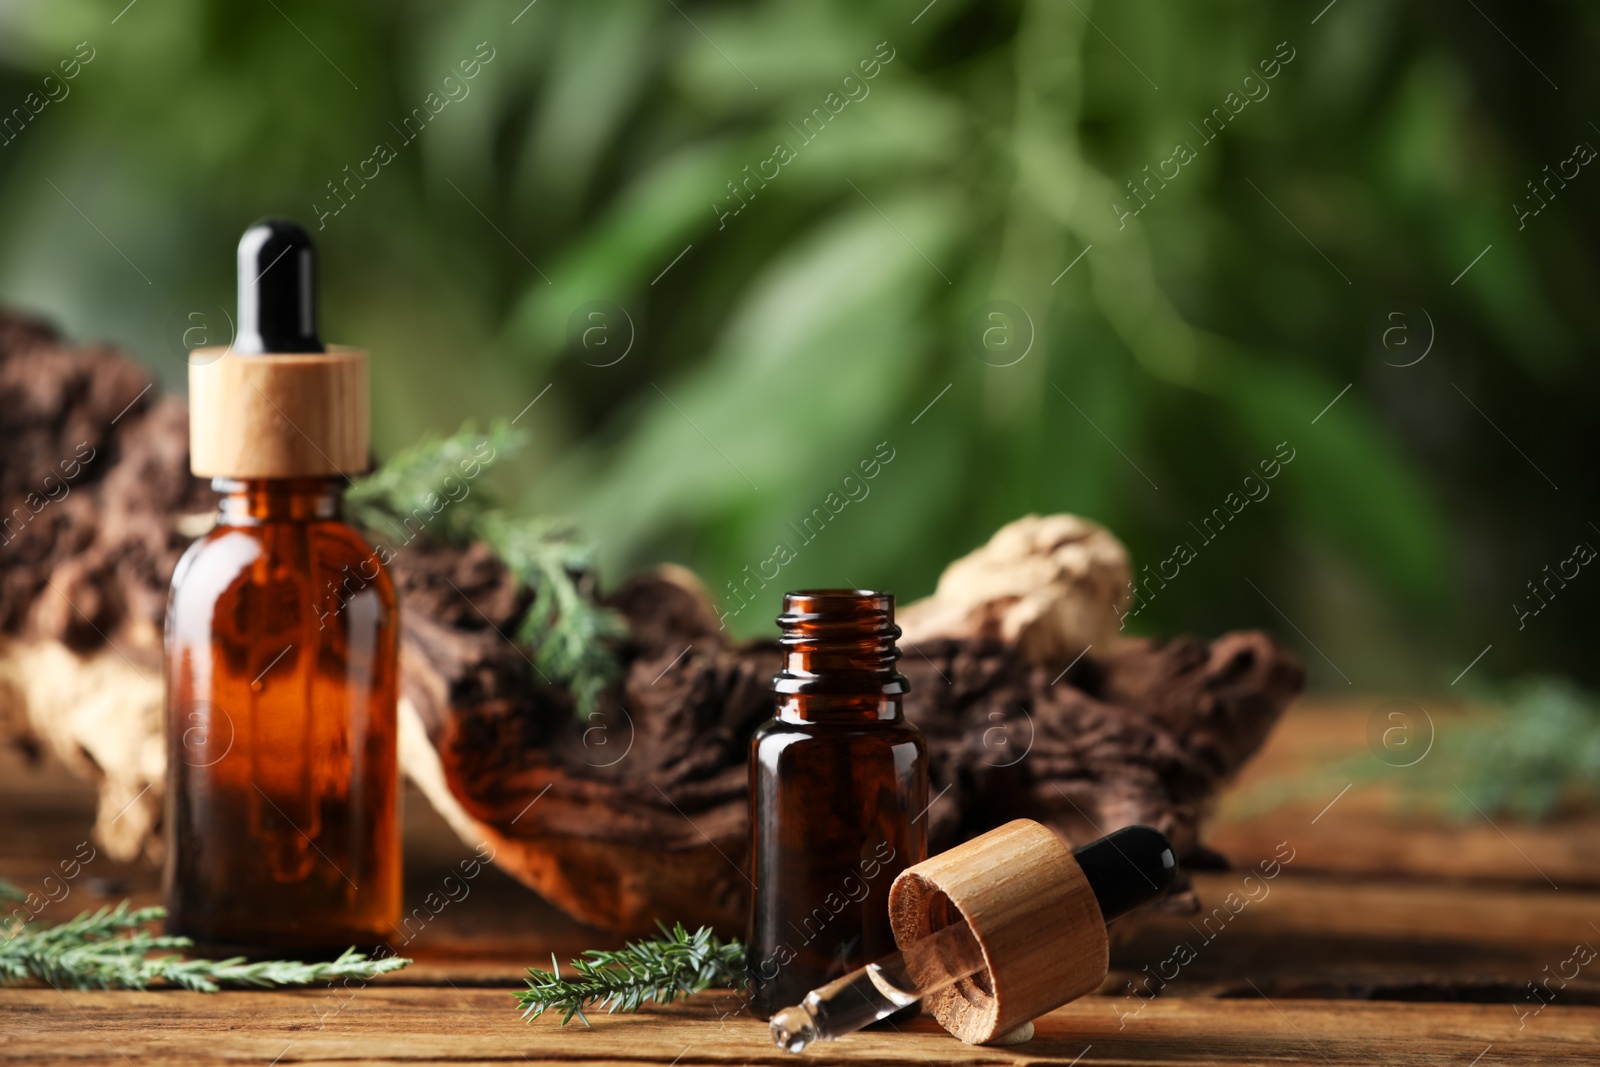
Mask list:
POLYGON ((750 741, 750 1009, 894 950, 888 891, 926 853, 928 749, 906 721, 894 597, 787 593, 778 715, 750 741))

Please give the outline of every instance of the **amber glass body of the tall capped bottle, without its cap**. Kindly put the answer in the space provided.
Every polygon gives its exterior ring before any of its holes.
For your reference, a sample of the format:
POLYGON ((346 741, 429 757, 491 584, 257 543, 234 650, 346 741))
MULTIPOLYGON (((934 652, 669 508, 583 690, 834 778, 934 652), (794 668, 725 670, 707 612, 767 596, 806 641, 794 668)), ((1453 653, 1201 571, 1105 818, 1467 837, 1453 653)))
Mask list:
POLYGON ((166 926, 378 945, 400 913, 395 597, 341 478, 214 482, 166 614, 166 926))

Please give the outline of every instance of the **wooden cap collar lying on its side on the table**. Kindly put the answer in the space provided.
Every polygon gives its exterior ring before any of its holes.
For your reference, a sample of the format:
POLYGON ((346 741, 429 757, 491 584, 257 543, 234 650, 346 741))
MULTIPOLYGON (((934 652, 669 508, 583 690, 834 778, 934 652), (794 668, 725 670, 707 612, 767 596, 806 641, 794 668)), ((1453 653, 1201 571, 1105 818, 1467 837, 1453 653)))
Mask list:
POLYGON ((1006 822, 902 870, 890 886, 901 949, 960 918, 987 969, 923 1003, 968 1045, 994 1041, 1106 977, 1106 918, 1094 889, 1066 841, 1038 822, 1006 822))

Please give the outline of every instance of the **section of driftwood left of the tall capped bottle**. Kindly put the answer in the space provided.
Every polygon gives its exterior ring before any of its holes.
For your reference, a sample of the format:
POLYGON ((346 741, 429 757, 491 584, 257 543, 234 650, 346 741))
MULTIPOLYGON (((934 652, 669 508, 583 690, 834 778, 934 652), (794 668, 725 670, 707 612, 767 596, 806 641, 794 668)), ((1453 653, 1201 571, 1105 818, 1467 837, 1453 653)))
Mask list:
POLYGON ((99 781, 118 857, 160 840, 166 584, 216 507, 187 426, 126 357, 0 312, 0 736, 99 781))

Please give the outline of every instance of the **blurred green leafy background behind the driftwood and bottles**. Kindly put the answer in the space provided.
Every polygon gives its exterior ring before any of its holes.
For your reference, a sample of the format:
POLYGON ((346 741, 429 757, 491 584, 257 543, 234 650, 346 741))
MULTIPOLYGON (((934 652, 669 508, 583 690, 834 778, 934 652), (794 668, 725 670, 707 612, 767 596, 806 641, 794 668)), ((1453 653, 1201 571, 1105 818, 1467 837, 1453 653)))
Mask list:
POLYGON ((1486 645, 1483 675, 1595 683, 1600 576, 1518 611, 1600 544, 1600 178, 1514 205, 1600 144, 1600 11, 923 3, 5 0, 0 109, 58 99, 0 134, 0 302, 182 389, 245 226, 339 206, 323 336, 373 350, 379 454, 520 413, 517 510, 728 609, 787 541, 739 633, 789 587, 926 593, 1072 510, 1141 568, 1195 549, 1139 632, 1264 625, 1336 691, 1448 689, 1486 645), (734 198, 746 166, 771 179, 734 198), (1200 536, 1285 442, 1270 496, 1200 536))

